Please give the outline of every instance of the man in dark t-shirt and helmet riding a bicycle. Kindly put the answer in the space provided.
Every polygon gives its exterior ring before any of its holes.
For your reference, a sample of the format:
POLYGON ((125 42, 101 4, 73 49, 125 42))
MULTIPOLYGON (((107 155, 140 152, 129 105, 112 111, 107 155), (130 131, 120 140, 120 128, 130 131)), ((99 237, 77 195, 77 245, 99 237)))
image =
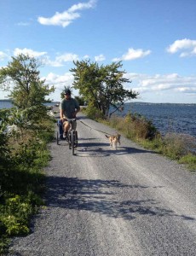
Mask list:
MULTIPOLYGON (((70 128, 70 124, 67 119, 76 118, 77 113, 80 111, 80 107, 78 102, 71 97, 71 90, 67 89, 64 93, 64 99, 60 104, 60 121, 59 130, 60 130, 60 138, 63 139, 63 134, 66 136, 67 131, 70 128)), ((76 130, 76 121, 72 122, 72 129, 76 130)))

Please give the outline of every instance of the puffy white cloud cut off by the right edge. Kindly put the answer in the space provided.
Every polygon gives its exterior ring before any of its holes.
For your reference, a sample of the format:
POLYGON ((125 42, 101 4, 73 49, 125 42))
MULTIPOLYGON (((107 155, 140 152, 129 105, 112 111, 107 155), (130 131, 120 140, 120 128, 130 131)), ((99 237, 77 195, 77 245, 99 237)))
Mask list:
POLYGON ((166 50, 171 54, 175 54, 180 51, 180 57, 196 56, 196 40, 190 40, 187 38, 176 40, 173 44, 170 44, 166 50))

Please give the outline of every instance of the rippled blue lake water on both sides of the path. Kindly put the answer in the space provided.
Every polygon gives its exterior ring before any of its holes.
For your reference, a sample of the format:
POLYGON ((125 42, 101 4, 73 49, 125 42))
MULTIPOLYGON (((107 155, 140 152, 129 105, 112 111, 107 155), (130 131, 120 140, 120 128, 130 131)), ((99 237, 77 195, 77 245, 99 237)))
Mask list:
MULTIPOLYGON (((55 105, 56 102, 50 103, 55 105)), ((0 100, 1 108, 12 108, 11 102, 0 100)), ((153 121, 153 125, 162 133, 177 132, 196 137, 196 104, 144 103, 124 104, 122 116, 128 112, 140 113, 153 121)))

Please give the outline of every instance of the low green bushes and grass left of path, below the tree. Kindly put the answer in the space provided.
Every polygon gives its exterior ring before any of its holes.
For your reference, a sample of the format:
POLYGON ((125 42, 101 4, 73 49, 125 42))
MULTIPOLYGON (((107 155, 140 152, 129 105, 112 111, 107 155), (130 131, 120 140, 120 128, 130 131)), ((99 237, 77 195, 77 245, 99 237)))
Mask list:
POLYGON ((43 167, 50 159, 47 143, 54 137, 54 126, 52 119, 45 119, 38 130, 22 128, 4 139, 3 152, 7 154, 0 162, 0 254, 6 253, 10 237, 29 233, 30 219, 43 205, 43 167))

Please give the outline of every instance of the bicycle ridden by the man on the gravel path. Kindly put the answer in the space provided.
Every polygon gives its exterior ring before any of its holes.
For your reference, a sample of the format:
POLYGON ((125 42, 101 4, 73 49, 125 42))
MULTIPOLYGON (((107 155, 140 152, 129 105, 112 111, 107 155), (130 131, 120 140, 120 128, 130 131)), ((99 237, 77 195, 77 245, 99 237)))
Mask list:
MULTIPOLYGON (((69 149, 72 149, 72 155, 74 155, 74 149, 77 148, 78 146, 78 131, 72 129, 72 122, 76 122, 76 119, 66 119, 66 120, 69 122, 70 128, 66 136, 63 137, 63 139, 68 142, 69 149)), ((56 133, 57 145, 59 145, 59 141, 60 141, 59 132, 57 131, 56 133)))

